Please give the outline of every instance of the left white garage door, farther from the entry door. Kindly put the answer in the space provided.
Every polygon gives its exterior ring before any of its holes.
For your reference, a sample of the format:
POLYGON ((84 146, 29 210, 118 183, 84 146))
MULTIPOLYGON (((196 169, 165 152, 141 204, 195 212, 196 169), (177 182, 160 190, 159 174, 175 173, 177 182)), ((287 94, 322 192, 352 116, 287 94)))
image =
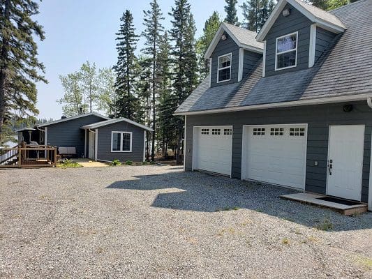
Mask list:
POLYGON ((232 127, 194 127, 193 169, 231 174, 232 127))

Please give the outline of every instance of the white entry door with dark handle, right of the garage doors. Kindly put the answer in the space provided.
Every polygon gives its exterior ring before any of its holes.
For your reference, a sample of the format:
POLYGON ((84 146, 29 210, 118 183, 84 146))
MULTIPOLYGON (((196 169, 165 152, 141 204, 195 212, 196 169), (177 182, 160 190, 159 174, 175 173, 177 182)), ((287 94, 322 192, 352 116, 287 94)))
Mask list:
POLYGON ((360 201, 363 152, 364 126, 329 126, 327 195, 360 201))

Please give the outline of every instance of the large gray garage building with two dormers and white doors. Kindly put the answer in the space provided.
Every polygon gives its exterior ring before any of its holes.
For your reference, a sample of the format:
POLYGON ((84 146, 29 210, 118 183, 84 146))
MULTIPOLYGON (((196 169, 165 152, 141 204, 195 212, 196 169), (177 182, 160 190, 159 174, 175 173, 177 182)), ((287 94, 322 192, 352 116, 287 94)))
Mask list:
POLYGON ((369 203, 372 0, 279 0, 260 33, 221 24, 210 75, 176 110, 185 169, 369 203))

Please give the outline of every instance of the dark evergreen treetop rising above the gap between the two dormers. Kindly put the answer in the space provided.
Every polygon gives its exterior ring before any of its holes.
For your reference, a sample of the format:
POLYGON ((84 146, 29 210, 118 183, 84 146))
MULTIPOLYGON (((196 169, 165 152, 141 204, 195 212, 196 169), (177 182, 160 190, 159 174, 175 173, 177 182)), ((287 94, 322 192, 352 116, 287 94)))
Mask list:
POLYGON ((274 0, 246 0, 241 5, 245 29, 258 32, 274 9, 274 0))

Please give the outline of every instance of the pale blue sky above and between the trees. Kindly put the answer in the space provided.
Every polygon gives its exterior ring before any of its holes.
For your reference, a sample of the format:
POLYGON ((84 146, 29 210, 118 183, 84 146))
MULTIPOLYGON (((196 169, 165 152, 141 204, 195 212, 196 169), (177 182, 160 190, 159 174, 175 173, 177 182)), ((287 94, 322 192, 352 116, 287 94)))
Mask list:
MULTIPOLYGON (((239 1, 241 5, 243 0, 239 1)), ((195 17, 197 37, 204 22, 217 10, 225 17, 225 0, 189 0, 195 17)), ((174 0, 158 0, 170 29, 170 12, 174 0)), ((44 63, 49 84, 38 83, 38 117, 59 119, 61 105, 56 100, 63 96, 59 75, 78 70, 82 63, 90 61, 98 68, 113 66, 117 61, 115 33, 124 10, 133 13, 135 28, 143 30, 143 10, 149 9, 149 0, 44 0, 40 3, 40 14, 35 17, 43 25, 46 39, 38 42, 38 58, 44 63)), ((241 20, 241 11, 238 12, 241 20)), ((140 52, 140 40, 137 52, 140 52)))

